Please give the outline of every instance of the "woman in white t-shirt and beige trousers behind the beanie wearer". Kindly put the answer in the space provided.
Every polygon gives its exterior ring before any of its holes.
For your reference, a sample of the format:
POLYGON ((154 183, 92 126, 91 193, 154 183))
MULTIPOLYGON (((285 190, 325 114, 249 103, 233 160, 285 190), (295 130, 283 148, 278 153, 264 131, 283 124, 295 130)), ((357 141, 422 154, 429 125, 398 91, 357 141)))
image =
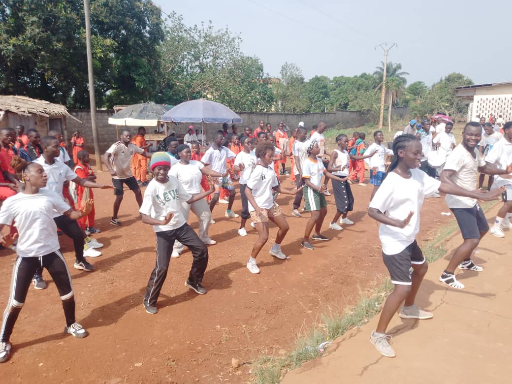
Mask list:
MULTIPOLYGON (((169 175, 176 177, 183 188, 190 195, 195 196, 201 193, 201 181, 203 179, 203 175, 211 177, 222 177, 221 173, 215 172, 215 170, 211 170, 210 167, 205 166, 202 162, 190 160, 192 157, 192 151, 188 145, 180 144, 176 150, 178 151, 178 157, 180 158, 180 161, 170 167, 169 175)), ((182 206, 185 220, 188 220, 190 210, 192 210, 199 219, 199 239, 201 239, 201 241, 206 245, 217 244, 215 240, 210 239, 208 236, 208 228, 210 227, 211 221, 211 211, 210 207, 206 203, 206 200, 200 199, 193 202, 192 204, 187 204, 184 202, 182 206)), ((174 243, 171 257, 179 258, 184 248, 185 247, 183 244, 181 244, 179 241, 176 241, 174 243)))

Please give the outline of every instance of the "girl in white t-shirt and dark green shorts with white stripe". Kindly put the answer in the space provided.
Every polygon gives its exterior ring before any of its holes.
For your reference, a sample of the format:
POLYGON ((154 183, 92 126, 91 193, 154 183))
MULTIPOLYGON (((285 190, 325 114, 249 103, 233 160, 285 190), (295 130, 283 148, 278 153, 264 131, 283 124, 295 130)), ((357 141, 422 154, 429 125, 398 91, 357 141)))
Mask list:
POLYGON ((332 175, 327 169, 325 169, 322 159, 318 159, 317 156, 320 154, 320 147, 317 141, 312 141, 306 151, 308 157, 302 164, 302 178, 304 179, 304 206, 306 210, 311 211, 311 217, 306 223, 306 229, 304 230, 304 237, 302 238, 301 245, 306 249, 315 249, 309 242, 309 237, 315 229, 312 239, 313 240, 329 240, 325 236, 322 236, 320 231, 322 230, 322 224, 324 223, 325 216, 327 215, 327 200, 325 199, 326 184, 322 183, 322 178, 325 175, 327 179, 333 179, 337 181, 346 181, 347 178, 341 178, 332 175))

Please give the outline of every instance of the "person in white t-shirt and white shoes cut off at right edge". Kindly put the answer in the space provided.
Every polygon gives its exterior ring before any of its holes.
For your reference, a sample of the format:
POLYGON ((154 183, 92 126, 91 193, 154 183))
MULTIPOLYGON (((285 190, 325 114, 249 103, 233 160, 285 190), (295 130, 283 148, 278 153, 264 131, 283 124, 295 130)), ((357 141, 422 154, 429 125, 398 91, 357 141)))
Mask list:
MULTIPOLYGON (((487 129, 487 127, 485 127, 487 129)), ((498 168, 508 168, 512 164, 512 121, 503 125, 503 137, 493 146, 485 157, 485 161, 496 165, 498 168)), ((512 175, 497 176, 492 189, 506 187, 503 191, 501 206, 490 233, 498 238, 504 238, 503 228, 512 228, 510 215, 512 214, 512 175)))

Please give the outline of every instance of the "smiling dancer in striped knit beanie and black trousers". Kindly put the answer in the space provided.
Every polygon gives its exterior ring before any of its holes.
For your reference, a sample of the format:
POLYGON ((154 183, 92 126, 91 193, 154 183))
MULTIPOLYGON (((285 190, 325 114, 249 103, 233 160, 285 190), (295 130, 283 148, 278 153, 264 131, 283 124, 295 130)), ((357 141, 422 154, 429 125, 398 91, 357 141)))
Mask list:
POLYGON ((214 188, 210 186, 210 190, 194 196, 187 193, 176 177, 168 175, 170 159, 165 152, 154 153, 150 167, 154 178, 144 191, 140 214, 144 224, 153 225, 157 242, 157 261, 147 283, 143 304, 147 313, 155 314, 158 312, 156 303, 167 276, 175 241, 187 246, 194 258, 185 286, 196 293, 206 293, 201 283, 208 265, 208 249, 187 224, 182 202, 191 204, 204 199, 214 191, 214 188))

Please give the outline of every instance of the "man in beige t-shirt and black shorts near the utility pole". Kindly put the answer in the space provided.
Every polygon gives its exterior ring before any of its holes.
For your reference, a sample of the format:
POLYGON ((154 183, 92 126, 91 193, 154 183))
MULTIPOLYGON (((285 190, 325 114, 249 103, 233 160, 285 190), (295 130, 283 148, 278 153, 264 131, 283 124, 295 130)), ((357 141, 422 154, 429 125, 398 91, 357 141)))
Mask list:
POLYGON ((122 130, 119 141, 112 144, 101 158, 112 176, 112 184, 114 184, 115 188, 114 196, 116 200, 114 200, 114 210, 110 220, 110 224, 115 226, 121 225, 121 222, 117 219, 117 214, 119 213, 121 201, 123 201, 123 184, 126 184, 133 191, 139 207, 142 204, 142 193, 132 173, 132 157, 135 154, 139 154, 151 158, 151 154, 148 154, 130 141, 132 141, 132 133, 128 130, 122 130))

